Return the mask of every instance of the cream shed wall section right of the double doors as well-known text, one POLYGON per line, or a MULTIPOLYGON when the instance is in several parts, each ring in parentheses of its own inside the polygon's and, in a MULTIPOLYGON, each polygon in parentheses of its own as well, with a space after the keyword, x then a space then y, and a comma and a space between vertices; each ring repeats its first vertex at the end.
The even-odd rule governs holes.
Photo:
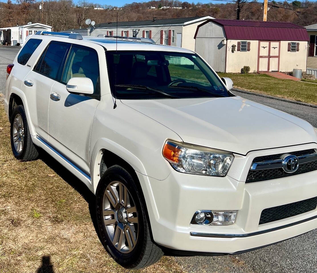
POLYGON ((306 71, 306 55, 307 41, 281 41, 280 71, 289 72, 293 71, 294 68, 306 71), (289 42, 298 42, 299 51, 287 51, 289 42))

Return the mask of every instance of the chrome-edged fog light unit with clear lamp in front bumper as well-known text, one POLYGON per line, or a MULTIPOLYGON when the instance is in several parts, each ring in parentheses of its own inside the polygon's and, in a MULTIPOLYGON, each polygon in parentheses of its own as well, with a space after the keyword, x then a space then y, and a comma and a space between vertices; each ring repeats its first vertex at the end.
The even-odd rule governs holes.
POLYGON ((197 210, 191 219, 192 225, 233 225, 237 210, 197 210))

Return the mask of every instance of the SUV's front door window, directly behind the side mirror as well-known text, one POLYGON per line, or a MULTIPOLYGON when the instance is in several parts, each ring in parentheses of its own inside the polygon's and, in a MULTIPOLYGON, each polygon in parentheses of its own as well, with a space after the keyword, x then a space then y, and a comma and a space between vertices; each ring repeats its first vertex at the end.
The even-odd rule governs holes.
POLYGON ((98 54, 94 49, 74 45, 71 47, 62 82, 66 84, 74 77, 90 78, 94 84, 94 93, 100 91, 98 54))

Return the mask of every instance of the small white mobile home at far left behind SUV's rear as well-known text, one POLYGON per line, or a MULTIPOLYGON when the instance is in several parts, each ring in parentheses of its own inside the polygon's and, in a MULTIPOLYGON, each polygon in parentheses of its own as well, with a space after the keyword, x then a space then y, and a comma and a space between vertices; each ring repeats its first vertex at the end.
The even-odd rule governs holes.
POLYGON ((0 28, 1 43, 15 46, 17 43, 23 45, 28 35, 35 34, 38 31, 52 31, 52 27, 40 23, 27 24, 23 26, 0 28))

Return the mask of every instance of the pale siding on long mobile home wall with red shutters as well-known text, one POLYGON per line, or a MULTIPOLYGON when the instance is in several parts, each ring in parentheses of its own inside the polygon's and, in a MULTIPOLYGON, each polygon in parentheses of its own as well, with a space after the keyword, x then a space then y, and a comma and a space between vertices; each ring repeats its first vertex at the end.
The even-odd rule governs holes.
MULTIPOLYGON (((98 36, 99 34, 107 34, 107 31, 113 31, 113 35, 121 35, 121 31, 129 31, 129 37, 133 35, 133 29, 140 29, 138 33, 138 37, 142 37, 143 30, 151 30, 152 31, 152 39, 155 43, 160 44, 161 39, 161 30, 175 30, 174 42, 171 39, 171 46, 176 46, 176 33, 182 33, 182 26, 153 26, 153 27, 136 27, 136 28, 118 28, 118 34, 116 28, 96 28, 94 30, 88 31, 89 36, 98 36)), ((193 36, 194 37, 194 36, 193 36)), ((194 44, 195 48, 195 44, 194 44)))

